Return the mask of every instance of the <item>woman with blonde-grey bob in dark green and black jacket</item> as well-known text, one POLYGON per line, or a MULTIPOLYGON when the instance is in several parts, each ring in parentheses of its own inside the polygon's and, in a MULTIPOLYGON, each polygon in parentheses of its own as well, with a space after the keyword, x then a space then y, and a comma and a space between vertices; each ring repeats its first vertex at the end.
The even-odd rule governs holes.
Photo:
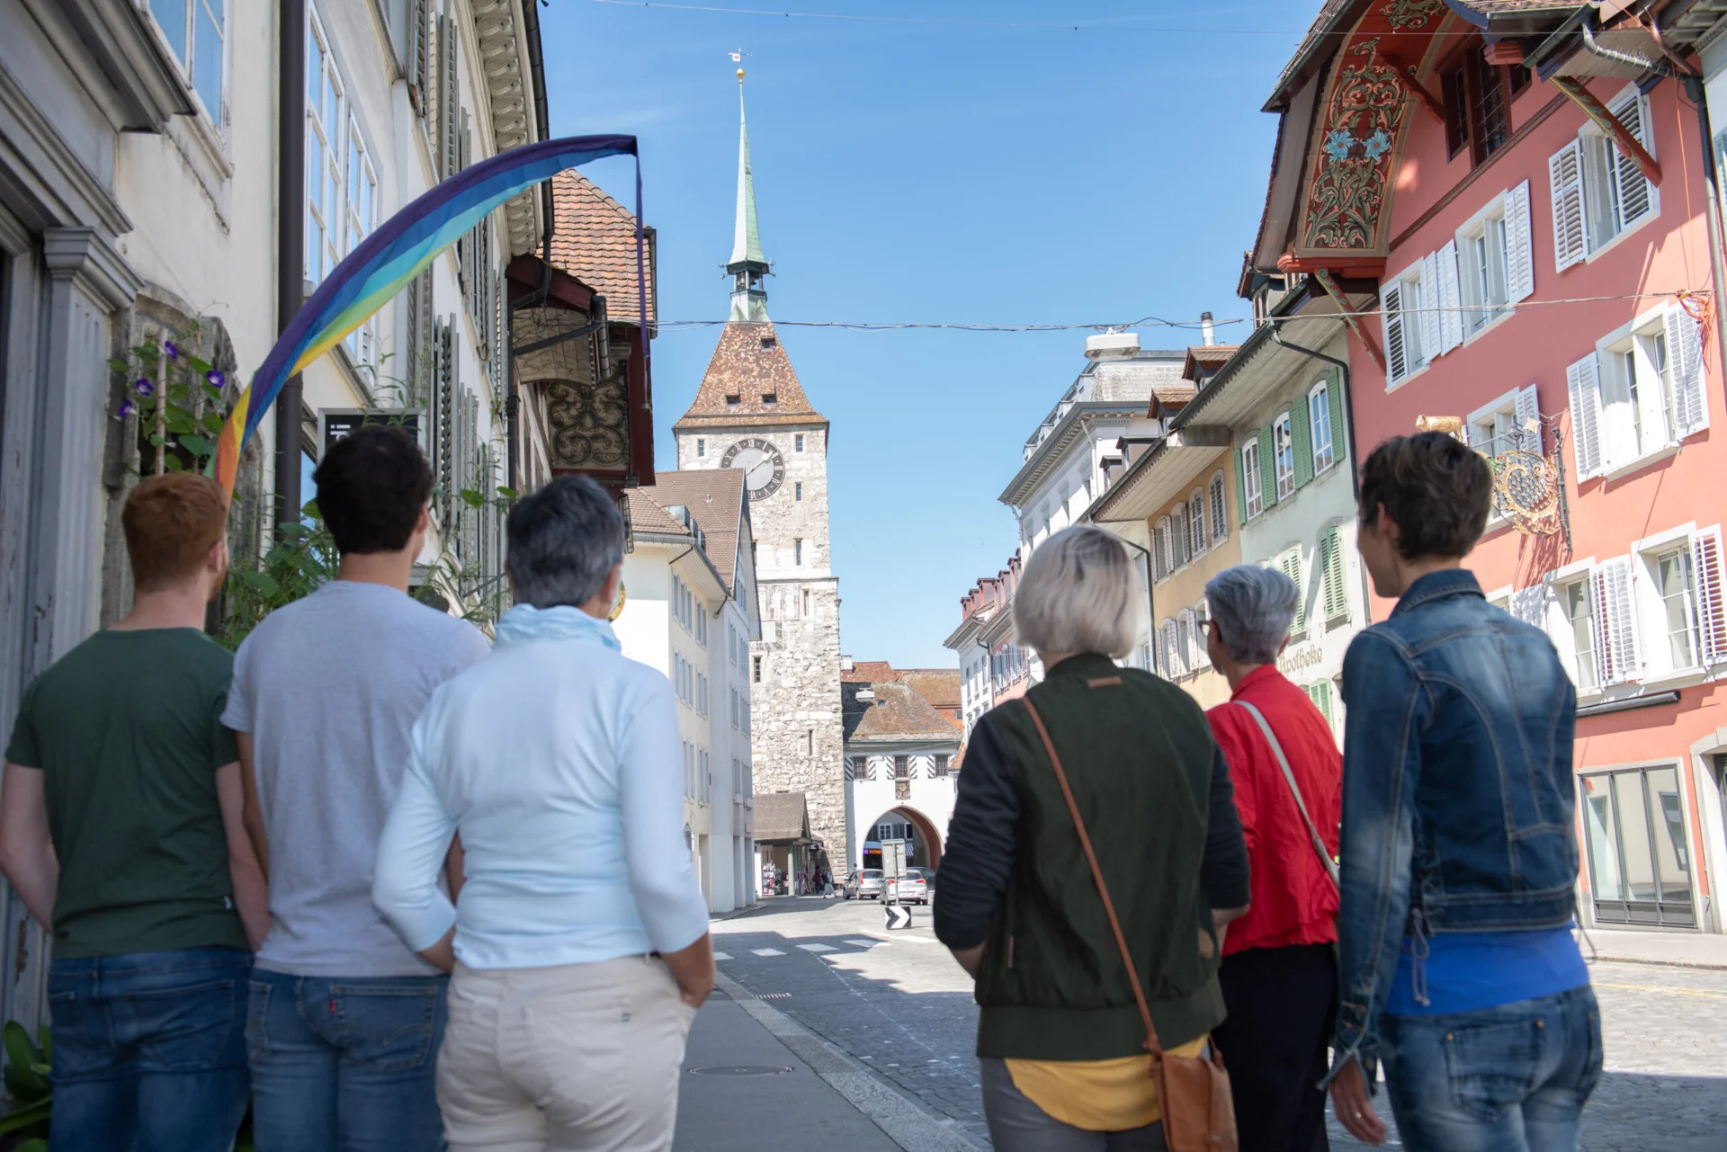
POLYGON ((1142 606, 1116 537, 1081 527, 1045 541, 1014 598, 1045 679, 984 713, 967 746, 934 924, 977 979, 996 1152, 1162 1149, 1138 991, 1169 1055, 1202 1054, 1223 1021, 1219 936, 1247 910, 1247 848, 1205 713, 1112 660, 1133 651, 1142 606))

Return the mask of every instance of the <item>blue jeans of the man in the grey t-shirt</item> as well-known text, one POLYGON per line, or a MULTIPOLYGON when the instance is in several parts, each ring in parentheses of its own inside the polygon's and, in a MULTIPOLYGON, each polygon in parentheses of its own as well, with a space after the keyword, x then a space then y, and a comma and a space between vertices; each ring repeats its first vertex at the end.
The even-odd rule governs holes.
POLYGON ((252 972, 257 1152, 442 1152, 433 1076, 447 976, 252 972))

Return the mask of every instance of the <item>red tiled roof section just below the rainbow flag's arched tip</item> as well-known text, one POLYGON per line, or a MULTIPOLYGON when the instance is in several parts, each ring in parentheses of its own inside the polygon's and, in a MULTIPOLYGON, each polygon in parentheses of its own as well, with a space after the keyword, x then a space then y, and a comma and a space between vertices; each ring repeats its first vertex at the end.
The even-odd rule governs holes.
MULTIPOLYGON (((551 178, 551 263, 606 297, 606 316, 641 323, 641 285, 636 276, 636 214, 601 192, 580 173, 551 178)), ((656 320, 653 228, 642 237, 642 275, 648 280, 648 318, 656 320)))

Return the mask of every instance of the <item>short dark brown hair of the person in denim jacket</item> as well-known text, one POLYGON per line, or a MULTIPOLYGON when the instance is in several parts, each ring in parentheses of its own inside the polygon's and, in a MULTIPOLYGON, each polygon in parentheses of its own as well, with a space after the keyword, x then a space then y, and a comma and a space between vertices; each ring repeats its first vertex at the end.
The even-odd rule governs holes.
POLYGON ((1397 523, 1397 551, 1466 556, 1487 529, 1494 473, 1480 453, 1445 432, 1394 435, 1361 465, 1361 523, 1380 504, 1397 523))

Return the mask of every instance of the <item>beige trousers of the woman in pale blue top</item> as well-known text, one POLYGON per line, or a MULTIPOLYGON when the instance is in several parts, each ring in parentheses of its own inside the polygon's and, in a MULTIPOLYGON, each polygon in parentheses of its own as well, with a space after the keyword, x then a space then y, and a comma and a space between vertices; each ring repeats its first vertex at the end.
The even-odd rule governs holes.
POLYGON ((696 1010, 665 962, 456 965, 437 1059, 451 1152, 665 1152, 696 1010))

